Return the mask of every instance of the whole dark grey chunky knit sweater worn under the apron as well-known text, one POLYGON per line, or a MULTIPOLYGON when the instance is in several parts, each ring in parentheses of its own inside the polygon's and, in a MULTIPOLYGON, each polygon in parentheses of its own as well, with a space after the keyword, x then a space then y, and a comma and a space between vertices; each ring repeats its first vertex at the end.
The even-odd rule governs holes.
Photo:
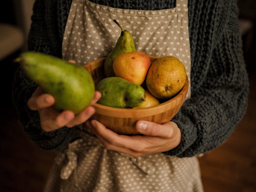
MULTIPOLYGON (((91 0, 123 9, 169 9, 175 0, 91 0)), ((72 0, 36 0, 29 49, 61 57, 61 43, 72 0)), ((233 0, 189 0, 192 97, 172 119, 182 132, 179 146, 163 152, 191 157, 210 151, 230 136, 245 113, 248 79, 233 0)), ((14 102, 26 133, 41 148, 62 150, 79 137, 76 128, 41 130, 38 113, 26 102, 36 85, 18 69, 14 102)))

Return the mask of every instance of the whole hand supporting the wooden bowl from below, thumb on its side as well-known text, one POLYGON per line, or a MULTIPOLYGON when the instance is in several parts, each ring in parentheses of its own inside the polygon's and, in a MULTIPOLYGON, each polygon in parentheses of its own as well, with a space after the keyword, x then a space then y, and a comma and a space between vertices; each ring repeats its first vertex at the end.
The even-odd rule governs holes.
POLYGON ((139 157, 146 154, 169 151, 180 144, 181 132, 175 122, 163 125, 139 120, 136 129, 143 135, 119 135, 102 123, 92 120, 86 125, 93 131, 105 148, 139 157))

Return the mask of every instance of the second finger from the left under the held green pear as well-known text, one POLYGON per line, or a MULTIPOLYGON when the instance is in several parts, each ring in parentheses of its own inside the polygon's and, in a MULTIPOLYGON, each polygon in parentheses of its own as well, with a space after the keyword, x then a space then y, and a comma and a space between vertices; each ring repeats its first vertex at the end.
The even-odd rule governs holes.
POLYGON ((55 118, 45 118, 41 121, 41 127, 44 131, 55 131, 56 129, 66 126, 74 119, 72 111, 63 111, 55 118))

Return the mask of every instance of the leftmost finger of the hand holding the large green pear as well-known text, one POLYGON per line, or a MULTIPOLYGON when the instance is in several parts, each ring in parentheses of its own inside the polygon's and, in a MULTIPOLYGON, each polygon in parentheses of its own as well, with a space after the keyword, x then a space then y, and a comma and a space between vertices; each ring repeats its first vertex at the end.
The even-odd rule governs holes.
POLYGON ((27 105, 31 110, 38 110, 41 108, 47 108, 54 104, 54 97, 48 93, 37 96, 36 94, 29 98, 27 105))

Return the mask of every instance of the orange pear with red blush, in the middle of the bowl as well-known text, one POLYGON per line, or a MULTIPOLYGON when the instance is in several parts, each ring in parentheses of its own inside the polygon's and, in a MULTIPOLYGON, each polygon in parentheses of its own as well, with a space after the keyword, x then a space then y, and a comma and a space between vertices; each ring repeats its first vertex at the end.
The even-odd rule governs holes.
POLYGON ((115 76, 141 85, 147 75, 150 64, 150 59, 144 52, 125 52, 115 58, 113 71, 115 76))

